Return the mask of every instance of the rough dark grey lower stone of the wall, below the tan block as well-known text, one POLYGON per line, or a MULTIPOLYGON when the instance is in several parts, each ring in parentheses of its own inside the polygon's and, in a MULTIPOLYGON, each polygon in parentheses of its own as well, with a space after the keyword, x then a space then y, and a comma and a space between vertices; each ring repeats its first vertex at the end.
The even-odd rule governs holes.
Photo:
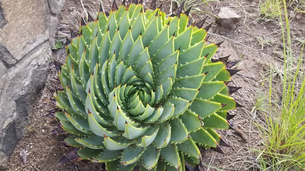
POLYGON ((0 79, 0 168, 22 137, 33 101, 45 83, 51 55, 50 45, 45 42, 0 79))

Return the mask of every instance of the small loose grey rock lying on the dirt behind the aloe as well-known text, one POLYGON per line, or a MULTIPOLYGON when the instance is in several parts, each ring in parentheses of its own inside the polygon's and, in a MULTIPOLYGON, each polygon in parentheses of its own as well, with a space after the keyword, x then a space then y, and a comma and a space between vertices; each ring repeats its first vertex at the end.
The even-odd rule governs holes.
POLYGON ((223 7, 220 9, 218 17, 217 22, 220 23, 221 26, 234 29, 241 16, 236 14, 233 9, 223 7))

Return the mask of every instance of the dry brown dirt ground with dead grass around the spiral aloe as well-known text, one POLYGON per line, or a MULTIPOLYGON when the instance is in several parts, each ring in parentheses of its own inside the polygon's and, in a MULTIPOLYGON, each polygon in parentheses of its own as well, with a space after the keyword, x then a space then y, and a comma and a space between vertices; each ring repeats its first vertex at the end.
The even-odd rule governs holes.
MULTIPOLYGON (((110 8, 110 3, 103 1, 105 9, 110 8)), ((160 5, 158 2, 157 5, 160 5)), ((278 20, 260 20, 258 11, 258 1, 248 0, 223 0, 219 2, 210 2, 206 6, 202 6, 203 11, 217 15, 222 7, 230 7, 241 16, 241 20, 236 23, 236 29, 231 30, 218 24, 213 24, 210 28, 209 43, 218 43, 225 41, 218 50, 215 57, 223 57, 231 54, 231 59, 242 59, 238 65, 241 72, 233 76, 232 86, 241 86, 233 94, 233 97, 245 108, 239 108, 232 111, 237 114, 233 119, 234 130, 221 131, 226 142, 232 147, 224 147, 226 154, 219 154, 214 151, 207 150, 203 154, 203 161, 206 168, 202 170, 259 170, 256 162, 257 154, 249 149, 260 148, 261 138, 257 131, 253 120, 256 119, 250 111, 252 110, 257 92, 263 91, 261 86, 264 77, 269 69, 269 65, 282 65, 281 51, 283 44, 281 41, 282 32, 281 25, 278 20), (260 40, 260 41, 259 41, 260 40), (220 168, 220 169, 216 169, 220 168)), ((98 11, 98 0, 84 0, 84 8, 90 11, 98 11)), ((164 2, 164 9, 169 11, 170 1, 164 2)), ((72 10, 82 11, 80 0, 67 0, 62 10, 61 19, 65 19, 72 10)), ((290 9, 292 46, 297 52, 299 51, 299 42, 295 39, 304 39, 304 15, 294 13, 290 9)), ((202 14, 205 16, 205 14, 202 14)), ((213 16, 208 16, 208 22, 214 22, 213 16)), ((205 25, 208 25, 206 23, 205 25)), ((55 55, 56 59, 64 59, 64 56, 55 55)), ((50 126, 56 122, 49 118, 40 117, 46 114, 47 110, 54 108, 50 100, 52 94, 49 89, 54 89, 60 83, 56 79, 56 71, 53 67, 50 70, 50 76, 47 80, 46 87, 43 90, 43 96, 38 97, 37 106, 31 114, 31 123, 26 126, 22 140, 16 146, 7 170, 82 170, 93 171, 101 170, 102 164, 99 163, 83 163, 77 168, 70 168, 71 164, 56 166, 68 150, 66 148, 53 148, 56 146, 60 138, 51 137, 48 133, 52 130, 50 126), (27 162, 23 163, 19 157, 21 149, 27 151, 27 162)))

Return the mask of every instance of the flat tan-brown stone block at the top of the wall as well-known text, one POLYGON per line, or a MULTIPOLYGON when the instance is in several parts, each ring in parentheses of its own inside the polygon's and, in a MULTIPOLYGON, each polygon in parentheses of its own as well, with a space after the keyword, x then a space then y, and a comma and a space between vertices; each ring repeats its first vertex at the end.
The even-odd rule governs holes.
POLYGON ((48 40, 47 0, 1 1, 1 8, 7 23, 0 28, 0 45, 7 48, 16 62, 48 40))

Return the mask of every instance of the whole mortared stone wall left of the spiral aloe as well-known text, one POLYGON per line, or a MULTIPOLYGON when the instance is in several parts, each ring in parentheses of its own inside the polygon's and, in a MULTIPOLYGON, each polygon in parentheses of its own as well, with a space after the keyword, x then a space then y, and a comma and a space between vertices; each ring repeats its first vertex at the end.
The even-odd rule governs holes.
POLYGON ((0 170, 45 84, 65 0, 0 0, 0 170))

